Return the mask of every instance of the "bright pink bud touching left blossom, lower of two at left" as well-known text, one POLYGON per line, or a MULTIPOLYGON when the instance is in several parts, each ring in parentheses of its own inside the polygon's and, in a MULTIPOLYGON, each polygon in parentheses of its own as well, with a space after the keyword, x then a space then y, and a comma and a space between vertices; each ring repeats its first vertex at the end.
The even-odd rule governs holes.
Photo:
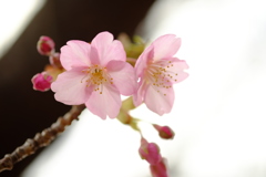
POLYGON ((45 92, 50 90, 52 83, 52 76, 47 72, 38 73, 32 79, 33 90, 45 92))

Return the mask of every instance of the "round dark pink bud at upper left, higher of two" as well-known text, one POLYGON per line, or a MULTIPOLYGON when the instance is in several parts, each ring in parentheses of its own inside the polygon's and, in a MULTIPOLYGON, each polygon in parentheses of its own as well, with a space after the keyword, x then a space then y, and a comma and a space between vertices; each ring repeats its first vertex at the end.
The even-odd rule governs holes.
POLYGON ((42 55, 51 55, 54 53, 54 42, 49 37, 40 37, 38 43, 37 43, 37 50, 42 55))

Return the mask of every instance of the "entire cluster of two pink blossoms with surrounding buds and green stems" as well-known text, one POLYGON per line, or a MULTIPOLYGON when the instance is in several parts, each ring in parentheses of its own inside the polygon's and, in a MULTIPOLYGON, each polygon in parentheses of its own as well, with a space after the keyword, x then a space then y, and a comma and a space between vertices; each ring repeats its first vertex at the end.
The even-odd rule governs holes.
MULTIPOLYGON (((175 58, 181 39, 174 34, 160 37, 150 46, 127 35, 114 40, 109 32, 99 33, 91 43, 72 40, 55 53, 54 42, 41 37, 38 51, 49 56, 44 72, 33 76, 33 88, 52 90, 57 101, 66 105, 84 104, 102 119, 117 118, 141 134, 139 153, 150 164, 153 177, 167 177, 166 159, 160 147, 149 143, 139 128, 140 119, 130 111, 145 103, 147 108, 163 115, 174 104, 173 84, 185 80, 188 69, 184 60, 175 58), (121 101, 121 95, 131 96, 121 101)), ((158 136, 172 139, 168 126, 152 124, 158 136)))

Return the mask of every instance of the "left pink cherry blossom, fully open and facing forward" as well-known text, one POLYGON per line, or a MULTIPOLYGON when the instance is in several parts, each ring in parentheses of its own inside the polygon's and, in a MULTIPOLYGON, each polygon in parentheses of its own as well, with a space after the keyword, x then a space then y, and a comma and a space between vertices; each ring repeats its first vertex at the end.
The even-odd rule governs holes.
POLYGON ((134 69, 126 63, 120 41, 109 32, 90 43, 69 41, 61 48, 61 64, 66 70, 52 83, 57 101, 68 105, 85 104, 101 118, 116 117, 121 96, 136 90, 134 69))

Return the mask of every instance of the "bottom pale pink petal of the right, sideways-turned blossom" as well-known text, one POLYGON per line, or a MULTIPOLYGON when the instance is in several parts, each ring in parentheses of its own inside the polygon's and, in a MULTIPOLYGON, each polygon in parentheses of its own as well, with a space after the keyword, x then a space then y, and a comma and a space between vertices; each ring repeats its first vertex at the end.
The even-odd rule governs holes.
POLYGON ((175 95, 173 87, 157 88, 153 85, 149 85, 144 102, 146 103, 147 108, 157 113, 158 115, 163 115, 164 113, 171 112, 174 104, 174 98, 175 95))

